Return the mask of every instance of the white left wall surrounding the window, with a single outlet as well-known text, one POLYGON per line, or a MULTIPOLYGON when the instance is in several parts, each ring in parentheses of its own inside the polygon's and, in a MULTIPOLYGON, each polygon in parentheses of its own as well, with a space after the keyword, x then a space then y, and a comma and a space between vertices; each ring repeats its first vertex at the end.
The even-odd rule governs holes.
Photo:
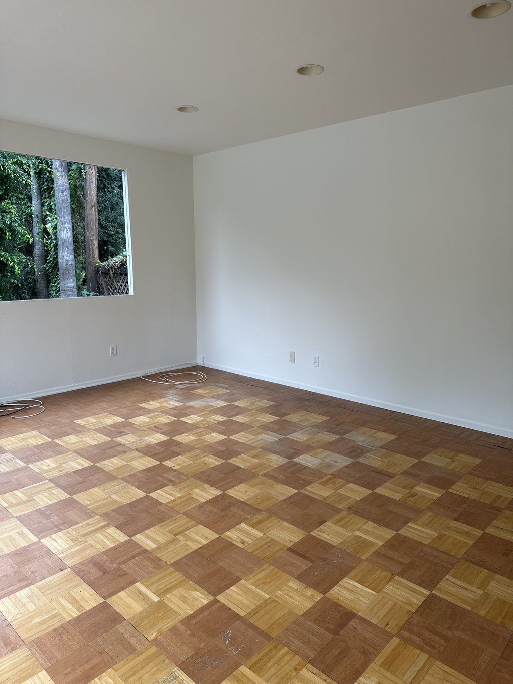
POLYGON ((127 170, 134 292, 0 302, 0 399, 196 362, 192 159, 8 121, 0 150, 127 170))

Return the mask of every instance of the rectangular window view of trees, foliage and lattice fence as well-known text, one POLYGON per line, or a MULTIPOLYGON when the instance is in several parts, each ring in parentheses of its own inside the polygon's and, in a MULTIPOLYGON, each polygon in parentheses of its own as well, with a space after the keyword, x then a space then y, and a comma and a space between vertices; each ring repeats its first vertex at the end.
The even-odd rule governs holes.
POLYGON ((0 152, 0 301, 128 294, 123 172, 0 152))

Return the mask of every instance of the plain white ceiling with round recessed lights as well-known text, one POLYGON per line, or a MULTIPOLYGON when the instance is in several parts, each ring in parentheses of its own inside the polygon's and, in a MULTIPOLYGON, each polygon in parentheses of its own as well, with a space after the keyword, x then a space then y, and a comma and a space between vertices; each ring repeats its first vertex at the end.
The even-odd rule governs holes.
POLYGON ((476 1, 2 0, 0 118, 198 154, 513 83, 476 1))

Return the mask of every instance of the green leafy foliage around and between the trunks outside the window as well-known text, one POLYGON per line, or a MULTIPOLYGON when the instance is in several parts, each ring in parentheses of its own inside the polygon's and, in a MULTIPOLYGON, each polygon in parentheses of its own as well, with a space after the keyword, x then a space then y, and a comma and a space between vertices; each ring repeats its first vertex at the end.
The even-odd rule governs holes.
MULTIPOLYGON (((0 300, 34 299, 35 267, 32 257, 30 172, 36 172, 40 190, 43 240, 49 297, 60 296, 57 254, 57 217, 51 159, 0 152, 0 300)), ((68 163, 73 248, 77 292, 86 289, 86 239, 83 189, 86 169, 68 163)), ((125 252, 122 172, 98 167, 98 252, 106 261, 125 252)))

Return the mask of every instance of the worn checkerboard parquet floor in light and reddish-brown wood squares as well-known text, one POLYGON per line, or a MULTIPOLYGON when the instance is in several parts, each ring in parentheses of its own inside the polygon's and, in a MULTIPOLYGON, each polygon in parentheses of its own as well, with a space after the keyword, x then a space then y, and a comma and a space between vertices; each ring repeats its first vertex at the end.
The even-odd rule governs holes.
POLYGON ((512 684, 512 440, 208 374, 1 422, 0 681, 512 684))

